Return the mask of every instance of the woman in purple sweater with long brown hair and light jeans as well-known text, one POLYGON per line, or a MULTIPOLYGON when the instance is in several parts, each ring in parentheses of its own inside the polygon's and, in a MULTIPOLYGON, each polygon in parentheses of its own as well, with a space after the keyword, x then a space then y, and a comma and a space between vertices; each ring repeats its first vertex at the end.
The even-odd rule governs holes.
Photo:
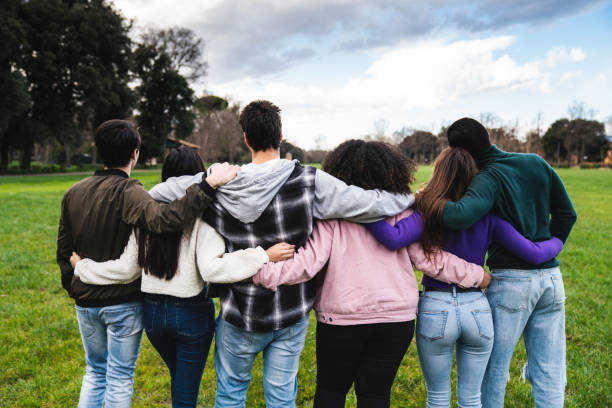
MULTIPOLYGON (((459 201, 478 172, 464 149, 447 148, 434 163, 427 186, 416 195, 411 217, 395 226, 379 221, 368 230, 389 249, 399 249, 420 240, 428 257, 440 248, 466 261, 484 264, 491 241, 532 264, 554 258, 563 243, 558 238, 532 242, 514 227, 490 213, 471 228, 455 232, 442 226, 442 208, 447 200, 459 201)), ((477 288, 463 289, 424 275, 419 300, 416 343, 427 383, 427 407, 449 407, 453 349, 457 348, 457 400, 459 407, 481 407, 480 386, 493 346, 493 321, 487 298, 477 288)))

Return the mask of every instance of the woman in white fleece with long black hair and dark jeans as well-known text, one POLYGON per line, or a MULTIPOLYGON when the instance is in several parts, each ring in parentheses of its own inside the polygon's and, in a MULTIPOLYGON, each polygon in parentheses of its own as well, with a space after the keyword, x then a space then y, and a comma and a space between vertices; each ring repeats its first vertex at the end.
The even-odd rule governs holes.
MULTIPOLYGON (((171 151, 164 160, 162 181, 205 171, 198 153, 171 151)), ((188 230, 155 234, 135 230, 117 260, 71 261, 82 281, 109 285, 142 277, 144 328, 171 377, 173 407, 195 407, 215 328, 215 308, 206 283, 232 283, 251 277, 267 261, 293 255, 293 246, 277 244, 225 254, 223 238, 197 219, 188 230)))

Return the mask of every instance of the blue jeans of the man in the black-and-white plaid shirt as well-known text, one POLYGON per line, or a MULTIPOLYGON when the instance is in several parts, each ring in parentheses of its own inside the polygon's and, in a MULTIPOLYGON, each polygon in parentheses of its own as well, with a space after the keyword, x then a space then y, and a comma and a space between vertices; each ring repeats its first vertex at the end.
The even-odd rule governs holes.
POLYGON ((215 407, 245 406, 253 362, 262 351, 266 407, 295 407, 297 372, 307 332, 308 316, 293 326, 265 333, 248 332, 217 318, 215 407))

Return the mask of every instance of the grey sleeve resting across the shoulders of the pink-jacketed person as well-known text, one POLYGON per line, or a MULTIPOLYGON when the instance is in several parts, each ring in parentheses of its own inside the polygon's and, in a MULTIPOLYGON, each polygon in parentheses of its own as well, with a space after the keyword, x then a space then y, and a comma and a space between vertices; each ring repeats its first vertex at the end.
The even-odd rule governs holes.
POLYGON ((399 214, 413 203, 411 194, 364 190, 349 186, 321 170, 315 175, 313 216, 318 219, 342 218, 369 223, 399 214))

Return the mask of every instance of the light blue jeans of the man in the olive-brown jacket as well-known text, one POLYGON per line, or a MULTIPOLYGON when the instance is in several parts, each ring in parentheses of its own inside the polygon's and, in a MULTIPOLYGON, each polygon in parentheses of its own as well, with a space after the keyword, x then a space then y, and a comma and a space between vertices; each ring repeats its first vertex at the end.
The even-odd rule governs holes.
POLYGON ((79 408, 129 407, 142 338, 142 303, 76 306, 85 349, 79 408))

